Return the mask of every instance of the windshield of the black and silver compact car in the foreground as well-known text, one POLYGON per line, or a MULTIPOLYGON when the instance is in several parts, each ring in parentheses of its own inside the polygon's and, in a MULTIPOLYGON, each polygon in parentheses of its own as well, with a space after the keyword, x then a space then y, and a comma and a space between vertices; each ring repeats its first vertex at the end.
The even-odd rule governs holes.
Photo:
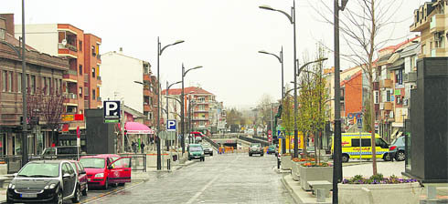
POLYGON ((28 163, 18 177, 59 177, 59 163, 28 163))

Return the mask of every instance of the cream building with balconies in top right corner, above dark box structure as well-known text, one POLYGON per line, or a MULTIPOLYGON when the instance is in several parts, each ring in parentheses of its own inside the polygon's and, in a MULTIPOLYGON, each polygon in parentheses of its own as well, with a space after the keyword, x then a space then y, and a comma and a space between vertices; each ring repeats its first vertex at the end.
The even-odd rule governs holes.
POLYGON ((411 32, 421 36, 422 57, 448 56, 448 1, 432 0, 414 11, 411 32))

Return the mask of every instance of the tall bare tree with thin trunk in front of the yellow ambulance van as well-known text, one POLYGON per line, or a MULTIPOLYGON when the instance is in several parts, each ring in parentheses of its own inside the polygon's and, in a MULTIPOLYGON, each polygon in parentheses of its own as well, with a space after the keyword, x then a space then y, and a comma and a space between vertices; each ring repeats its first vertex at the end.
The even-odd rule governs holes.
MULTIPOLYGON (((325 22, 333 25, 333 15, 325 16, 326 12, 333 13, 332 9, 321 0, 325 8, 316 8, 315 11, 321 15, 325 22), (330 19, 330 18, 331 19, 330 19)), ((393 25, 400 21, 393 21, 394 15, 400 9, 403 1, 385 0, 350 0, 347 8, 340 16, 340 31, 348 48, 347 53, 341 53, 347 61, 360 66, 364 75, 368 78, 368 106, 370 110, 369 122, 372 144, 372 168, 376 175, 376 144, 375 144, 375 105, 374 105, 374 82, 378 80, 380 70, 374 65, 374 59, 378 57, 379 49, 392 39, 393 25), (388 30, 388 28, 390 29, 388 30), (389 35, 384 32, 389 31, 389 35)))

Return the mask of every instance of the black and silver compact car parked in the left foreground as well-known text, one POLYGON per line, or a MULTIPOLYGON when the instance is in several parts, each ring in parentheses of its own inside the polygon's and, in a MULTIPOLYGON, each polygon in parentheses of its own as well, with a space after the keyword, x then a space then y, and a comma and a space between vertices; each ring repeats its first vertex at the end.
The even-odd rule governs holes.
POLYGON ((30 161, 6 190, 6 202, 80 202, 80 181, 69 160, 30 161))

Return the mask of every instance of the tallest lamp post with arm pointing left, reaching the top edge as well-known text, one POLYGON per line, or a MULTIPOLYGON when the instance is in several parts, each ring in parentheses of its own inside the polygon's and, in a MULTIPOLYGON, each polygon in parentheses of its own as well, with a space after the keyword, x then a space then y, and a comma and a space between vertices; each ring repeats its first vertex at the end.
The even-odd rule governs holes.
POLYGON ((295 40, 295 0, 293 0, 293 7, 291 7, 291 15, 288 15, 286 12, 282 11, 282 10, 278 10, 278 9, 273 9, 271 6, 268 5, 261 5, 259 6, 261 9, 266 9, 266 10, 270 10, 270 11, 276 11, 276 12, 280 12, 283 15, 285 15, 290 23, 293 25, 293 65, 294 65, 294 155, 293 158, 297 158, 298 154, 299 154, 299 149, 298 149, 298 130, 297 130, 297 70, 296 70, 296 63, 295 60, 297 58, 296 56, 296 40, 295 40))

